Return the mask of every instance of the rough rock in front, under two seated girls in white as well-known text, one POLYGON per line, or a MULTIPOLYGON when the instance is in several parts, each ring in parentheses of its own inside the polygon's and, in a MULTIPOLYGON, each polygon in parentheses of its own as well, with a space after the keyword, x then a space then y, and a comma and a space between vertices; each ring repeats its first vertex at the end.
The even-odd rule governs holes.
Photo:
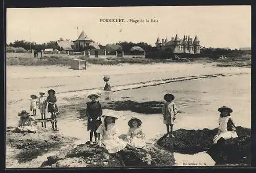
POLYGON ((173 166, 174 163, 172 154, 154 144, 147 144, 143 149, 126 147, 116 154, 109 154, 105 148, 80 144, 65 158, 49 157, 42 167, 173 166))

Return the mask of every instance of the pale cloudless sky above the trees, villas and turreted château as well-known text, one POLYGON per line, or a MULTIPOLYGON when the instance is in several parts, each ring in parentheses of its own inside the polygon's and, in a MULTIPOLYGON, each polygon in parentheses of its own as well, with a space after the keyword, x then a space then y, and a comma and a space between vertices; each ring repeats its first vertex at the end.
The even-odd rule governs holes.
POLYGON ((101 45, 132 41, 155 46, 158 36, 170 40, 189 34, 193 40, 197 35, 205 47, 251 47, 251 6, 9 8, 6 18, 7 44, 22 39, 37 44, 76 40, 83 30, 101 45), (100 22, 104 18, 126 22, 100 22), (130 19, 158 23, 130 23, 130 19))

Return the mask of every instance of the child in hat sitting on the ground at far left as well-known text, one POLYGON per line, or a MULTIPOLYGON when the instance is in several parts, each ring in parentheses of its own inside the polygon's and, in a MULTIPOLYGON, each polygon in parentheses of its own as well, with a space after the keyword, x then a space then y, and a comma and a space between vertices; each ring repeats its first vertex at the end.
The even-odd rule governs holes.
POLYGON ((22 111, 18 114, 20 117, 18 121, 18 126, 14 129, 14 132, 24 133, 26 135, 29 133, 36 133, 36 128, 32 125, 32 117, 27 111, 22 111))

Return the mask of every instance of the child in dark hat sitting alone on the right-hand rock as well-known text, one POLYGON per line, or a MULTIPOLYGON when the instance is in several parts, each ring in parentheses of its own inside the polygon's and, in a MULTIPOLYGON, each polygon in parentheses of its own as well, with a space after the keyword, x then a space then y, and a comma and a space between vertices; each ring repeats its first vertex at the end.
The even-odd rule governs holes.
POLYGON ((233 110, 230 107, 222 106, 218 111, 221 113, 219 118, 219 130, 214 137, 214 143, 218 143, 221 138, 224 140, 237 138, 236 126, 234 126, 234 122, 230 116, 233 110))

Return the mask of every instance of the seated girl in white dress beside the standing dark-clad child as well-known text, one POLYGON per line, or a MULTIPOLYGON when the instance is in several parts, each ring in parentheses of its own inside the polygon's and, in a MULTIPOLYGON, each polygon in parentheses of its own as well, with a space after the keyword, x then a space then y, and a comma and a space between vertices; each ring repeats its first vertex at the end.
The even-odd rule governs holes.
POLYGON ((104 123, 97 129, 99 142, 96 146, 105 147, 110 154, 114 154, 126 147, 127 143, 119 139, 118 129, 115 125, 115 120, 118 118, 108 115, 104 117, 104 123), (100 134, 102 135, 102 140, 100 140, 100 134))

